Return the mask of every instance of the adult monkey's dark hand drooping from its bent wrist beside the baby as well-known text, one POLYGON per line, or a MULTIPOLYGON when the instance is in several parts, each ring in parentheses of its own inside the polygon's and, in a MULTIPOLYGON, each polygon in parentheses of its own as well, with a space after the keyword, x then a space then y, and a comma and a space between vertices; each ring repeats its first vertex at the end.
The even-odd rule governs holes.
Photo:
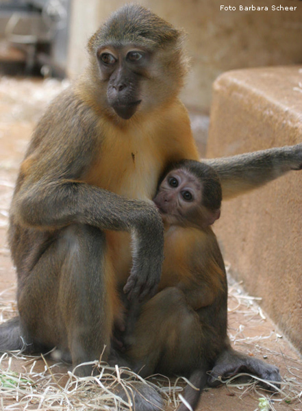
POLYGON ((124 287, 129 300, 142 301, 158 290, 164 260, 164 227, 155 206, 148 206, 136 229, 133 265, 124 287))

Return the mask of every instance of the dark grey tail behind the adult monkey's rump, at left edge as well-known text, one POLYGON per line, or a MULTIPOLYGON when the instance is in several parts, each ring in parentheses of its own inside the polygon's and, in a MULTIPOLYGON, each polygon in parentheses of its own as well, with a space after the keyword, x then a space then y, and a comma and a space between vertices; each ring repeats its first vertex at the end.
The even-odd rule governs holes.
POLYGON ((23 348, 20 318, 18 316, 0 324, 0 352, 23 348))

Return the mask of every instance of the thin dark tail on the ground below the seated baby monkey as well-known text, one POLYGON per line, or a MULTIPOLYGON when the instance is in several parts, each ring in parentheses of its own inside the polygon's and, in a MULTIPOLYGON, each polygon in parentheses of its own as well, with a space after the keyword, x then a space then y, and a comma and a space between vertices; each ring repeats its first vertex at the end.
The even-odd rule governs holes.
MULTIPOLYGON (((203 369, 199 369, 197 371, 194 371, 194 373, 191 374, 190 383, 198 388, 192 388, 191 385, 187 385, 184 391, 184 399, 186 403, 192 408, 192 410, 195 410, 197 407, 199 397, 201 396, 201 391, 205 387, 205 384, 207 384, 207 373, 203 369)), ((177 411, 188 411, 189 408, 186 406, 185 403, 181 403, 180 406, 177 407, 177 411)))

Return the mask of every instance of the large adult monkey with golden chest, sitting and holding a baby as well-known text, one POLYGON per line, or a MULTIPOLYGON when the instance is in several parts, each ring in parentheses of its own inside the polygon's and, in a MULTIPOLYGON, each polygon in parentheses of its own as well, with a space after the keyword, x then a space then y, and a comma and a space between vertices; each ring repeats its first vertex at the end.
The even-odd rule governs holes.
MULTIPOLYGON (((121 319, 116 287, 130 299, 156 292, 163 229, 149 200, 168 163, 199 158, 177 98, 187 66, 181 41, 140 5, 121 8, 90 39, 88 70, 42 117, 12 200, 19 316, 1 326, 1 351, 21 348, 23 336, 29 348, 71 353, 75 366, 95 360, 121 319)), ((302 145, 210 164, 227 198, 301 169, 302 145)), ((275 379, 261 364, 226 340, 213 373, 249 365, 275 379)))

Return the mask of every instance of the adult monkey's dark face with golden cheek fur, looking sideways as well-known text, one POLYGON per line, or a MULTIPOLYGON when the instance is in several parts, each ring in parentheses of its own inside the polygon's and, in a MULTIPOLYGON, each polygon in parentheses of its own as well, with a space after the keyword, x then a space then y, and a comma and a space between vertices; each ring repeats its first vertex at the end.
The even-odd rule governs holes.
MULTIPOLYGON (((97 51, 107 105, 124 120, 138 112, 149 115, 177 95, 180 79, 171 69, 171 51, 133 45, 102 46, 97 51)), ((176 71, 176 73, 178 73, 176 71)))

